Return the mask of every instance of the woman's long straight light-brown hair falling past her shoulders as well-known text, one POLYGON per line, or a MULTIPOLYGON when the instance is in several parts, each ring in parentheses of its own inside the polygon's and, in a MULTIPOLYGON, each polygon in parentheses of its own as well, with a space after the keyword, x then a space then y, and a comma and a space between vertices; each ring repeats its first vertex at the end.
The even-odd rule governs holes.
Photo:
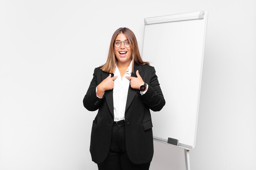
POLYGON ((130 43, 130 48, 131 48, 131 52, 132 52, 132 73, 134 73, 134 70, 133 70, 134 63, 139 64, 139 65, 144 65, 144 64, 149 65, 149 62, 144 62, 141 59, 141 56, 139 54, 138 43, 137 43, 134 33, 130 29, 124 27, 124 28, 117 29, 117 31, 115 31, 115 33, 112 35, 110 47, 109 47, 109 51, 108 51, 108 59, 107 59, 107 62, 101 66, 101 70, 105 71, 107 73, 115 72, 117 60, 115 57, 114 42, 115 42, 117 35, 119 35, 121 33, 126 35, 126 37, 128 38, 128 41, 130 43))

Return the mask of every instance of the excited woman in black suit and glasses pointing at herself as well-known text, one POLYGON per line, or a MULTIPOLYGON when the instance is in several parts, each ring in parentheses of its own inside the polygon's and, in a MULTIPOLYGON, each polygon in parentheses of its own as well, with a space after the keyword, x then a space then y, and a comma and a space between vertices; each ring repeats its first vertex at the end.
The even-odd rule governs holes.
POLYGON ((143 62, 128 28, 112 35, 108 59, 94 69, 83 99, 86 109, 99 109, 93 123, 90 152, 99 170, 148 170, 153 157, 149 109, 165 104, 155 69, 143 62))

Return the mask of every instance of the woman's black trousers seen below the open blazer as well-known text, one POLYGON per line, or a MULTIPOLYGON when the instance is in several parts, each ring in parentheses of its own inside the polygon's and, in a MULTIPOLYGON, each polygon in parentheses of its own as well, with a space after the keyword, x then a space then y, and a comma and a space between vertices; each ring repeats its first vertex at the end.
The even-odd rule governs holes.
POLYGON ((108 157, 98 163, 99 170, 149 170, 150 162, 135 164, 126 153, 125 121, 114 122, 108 157))

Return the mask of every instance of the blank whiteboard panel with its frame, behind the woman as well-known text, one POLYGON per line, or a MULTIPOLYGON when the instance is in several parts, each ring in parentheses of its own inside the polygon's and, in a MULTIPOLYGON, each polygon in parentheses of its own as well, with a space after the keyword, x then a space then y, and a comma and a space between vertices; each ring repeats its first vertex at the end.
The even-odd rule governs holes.
POLYGON ((145 18, 142 56, 155 67, 166 100, 152 113, 154 139, 195 148, 207 11, 145 18))

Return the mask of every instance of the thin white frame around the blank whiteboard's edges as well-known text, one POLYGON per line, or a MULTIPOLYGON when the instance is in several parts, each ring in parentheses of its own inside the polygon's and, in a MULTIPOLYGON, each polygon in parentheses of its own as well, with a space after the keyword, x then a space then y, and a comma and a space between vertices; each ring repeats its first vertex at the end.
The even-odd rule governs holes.
MULTIPOLYGON (((196 144, 197 129, 198 129, 198 113, 199 113, 199 104, 200 104, 200 92, 201 92, 201 82, 202 82, 202 68, 203 68, 204 48, 205 48, 205 40, 206 40, 206 33, 207 33, 208 11, 197 11, 197 12, 191 12, 191 13, 164 15, 164 16, 150 17, 150 18, 144 19, 144 36, 143 36, 143 45, 142 45, 141 56, 143 56, 143 51, 144 51, 144 38, 145 38, 146 25, 158 24, 158 23, 164 23, 164 22, 178 22, 178 21, 184 21, 184 20, 198 20, 198 19, 205 20, 205 25, 204 25, 205 29, 204 29, 204 39, 203 39, 202 56, 201 56, 202 62, 201 62, 201 68, 200 68, 200 79, 199 79, 200 82, 199 82, 199 89, 198 89, 198 105, 197 105, 197 112, 196 112, 194 145, 189 146, 189 145, 182 144, 182 143, 178 144, 179 147, 186 148, 186 149, 195 148, 195 144, 196 144)), ((155 137, 155 136, 153 136, 153 139, 155 141, 168 144, 167 139, 162 139, 162 138, 155 137)))

